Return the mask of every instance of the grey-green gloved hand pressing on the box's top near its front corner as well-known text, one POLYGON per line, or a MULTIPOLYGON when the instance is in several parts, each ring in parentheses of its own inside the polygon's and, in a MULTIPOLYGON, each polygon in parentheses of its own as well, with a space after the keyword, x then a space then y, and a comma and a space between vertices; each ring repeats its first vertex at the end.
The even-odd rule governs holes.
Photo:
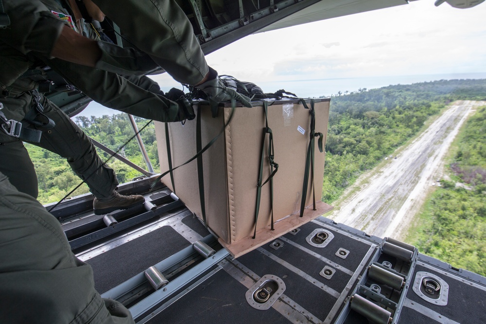
POLYGON ((226 87, 218 76, 218 72, 209 67, 208 81, 200 85, 195 85, 199 90, 204 91, 208 96, 211 105, 218 104, 226 100, 236 100, 243 106, 251 108, 250 98, 239 94, 234 89, 226 87))

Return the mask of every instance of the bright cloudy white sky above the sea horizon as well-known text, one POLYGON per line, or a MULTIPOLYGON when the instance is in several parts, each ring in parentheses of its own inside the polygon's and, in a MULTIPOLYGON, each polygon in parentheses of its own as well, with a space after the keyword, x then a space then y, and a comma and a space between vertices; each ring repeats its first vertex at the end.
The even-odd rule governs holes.
POLYGON ((486 72, 485 44, 486 2, 456 9, 419 0, 250 35, 207 60, 220 74, 255 83, 486 72))

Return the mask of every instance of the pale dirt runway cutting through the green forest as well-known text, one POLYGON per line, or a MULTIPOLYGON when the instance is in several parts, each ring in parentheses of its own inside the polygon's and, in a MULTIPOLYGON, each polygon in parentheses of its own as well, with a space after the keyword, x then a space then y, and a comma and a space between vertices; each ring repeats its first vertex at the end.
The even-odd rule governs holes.
POLYGON ((471 110, 482 105, 486 102, 453 102, 392 158, 364 173, 324 216, 369 235, 403 239, 427 192, 438 185, 444 156, 461 125, 471 110))

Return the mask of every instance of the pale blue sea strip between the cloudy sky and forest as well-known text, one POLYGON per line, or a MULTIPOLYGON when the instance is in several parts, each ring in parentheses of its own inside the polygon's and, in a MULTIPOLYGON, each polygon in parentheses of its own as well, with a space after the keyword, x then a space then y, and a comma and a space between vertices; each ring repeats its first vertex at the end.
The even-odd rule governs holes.
MULTIPOLYGON (((331 96, 337 94, 339 91, 342 93, 345 93, 346 91, 353 92, 360 88, 375 89, 388 85, 409 85, 420 82, 454 79, 486 79, 486 72, 276 81, 261 82, 258 83, 258 85, 264 92, 275 92, 280 89, 285 89, 288 92, 295 93, 301 98, 318 98, 321 96, 331 96)), ((162 90, 168 91, 172 85, 169 87, 160 85, 160 87, 162 90)), ((113 115, 116 113, 119 112, 117 110, 106 108, 99 103, 91 102, 78 116, 101 117, 103 115, 113 115)))

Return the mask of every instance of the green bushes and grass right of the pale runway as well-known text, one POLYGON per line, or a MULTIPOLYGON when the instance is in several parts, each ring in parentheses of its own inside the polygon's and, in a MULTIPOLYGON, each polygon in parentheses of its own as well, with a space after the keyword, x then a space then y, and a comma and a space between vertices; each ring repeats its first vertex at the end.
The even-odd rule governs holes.
POLYGON ((485 134, 483 107, 453 145, 448 168, 453 181, 441 181, 406 238, 421 253, 481 275, 486 275, 485 134))

